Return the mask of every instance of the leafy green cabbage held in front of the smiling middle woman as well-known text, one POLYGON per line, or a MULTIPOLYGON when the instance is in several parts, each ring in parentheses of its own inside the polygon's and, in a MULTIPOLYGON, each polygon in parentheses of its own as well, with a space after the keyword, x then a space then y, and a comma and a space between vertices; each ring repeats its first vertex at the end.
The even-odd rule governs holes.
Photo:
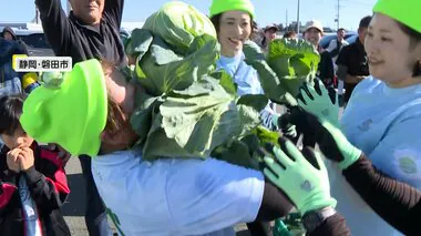
POLYGON ((267 57, 253 43, 245 45, 244 53, 246 63, 257 70, 265 94, 276 103, 289 105, 297 104, 294 98, 299 86, 316 78, 320 61, 316 49, 301 39, 271 41, 267 57))

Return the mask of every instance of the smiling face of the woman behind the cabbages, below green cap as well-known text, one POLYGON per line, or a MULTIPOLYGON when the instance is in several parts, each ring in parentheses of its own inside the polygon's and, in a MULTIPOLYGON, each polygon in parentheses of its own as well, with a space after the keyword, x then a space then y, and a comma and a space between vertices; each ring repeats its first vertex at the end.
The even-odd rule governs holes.
POLYGON ((218 41, 225 57, 235 57, 251 34, 251 19, 244 11, 227 11, 220 16, 218 41))

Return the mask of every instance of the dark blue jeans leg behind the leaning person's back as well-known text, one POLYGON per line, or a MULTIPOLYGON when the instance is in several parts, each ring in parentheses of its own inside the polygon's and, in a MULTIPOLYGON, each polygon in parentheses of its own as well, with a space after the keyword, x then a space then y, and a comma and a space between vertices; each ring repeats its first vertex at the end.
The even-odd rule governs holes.
POLYGON ((106 219, 105 205, 97 193, 95 182, 91 171, 91 157, 79 156, 81 162, 83 178, 85 179, 86 205, 85 223, 90 236, 111 236, 113 232, 106 219))

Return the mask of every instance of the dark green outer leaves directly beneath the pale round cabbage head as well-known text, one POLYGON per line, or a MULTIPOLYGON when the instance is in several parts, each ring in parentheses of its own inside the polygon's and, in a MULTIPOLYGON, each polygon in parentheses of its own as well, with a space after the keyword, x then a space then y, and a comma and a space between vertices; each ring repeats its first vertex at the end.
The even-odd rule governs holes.
POLYGON ((218 59, 218 43, 207 34, 195 38, 192 52, 176 54, 160 37, 154 37, 148 51, 138 57, 136 74, 151 95, 162 95, 173 90, 184 90, 209 73, 218 59))

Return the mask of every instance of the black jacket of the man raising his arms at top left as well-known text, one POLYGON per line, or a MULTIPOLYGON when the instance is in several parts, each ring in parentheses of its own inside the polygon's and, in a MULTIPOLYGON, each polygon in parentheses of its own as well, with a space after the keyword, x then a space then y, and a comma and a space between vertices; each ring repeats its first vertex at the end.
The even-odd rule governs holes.
POLYGON ((71 57, 73 64, 93 58, 115 65, 125 62, 120 39, 123 3, 123 0, 106 0, 100 24, 89 25, 73 12, 68 17, 60 0, 35 0, 42 28, 55 55, 71 57))

